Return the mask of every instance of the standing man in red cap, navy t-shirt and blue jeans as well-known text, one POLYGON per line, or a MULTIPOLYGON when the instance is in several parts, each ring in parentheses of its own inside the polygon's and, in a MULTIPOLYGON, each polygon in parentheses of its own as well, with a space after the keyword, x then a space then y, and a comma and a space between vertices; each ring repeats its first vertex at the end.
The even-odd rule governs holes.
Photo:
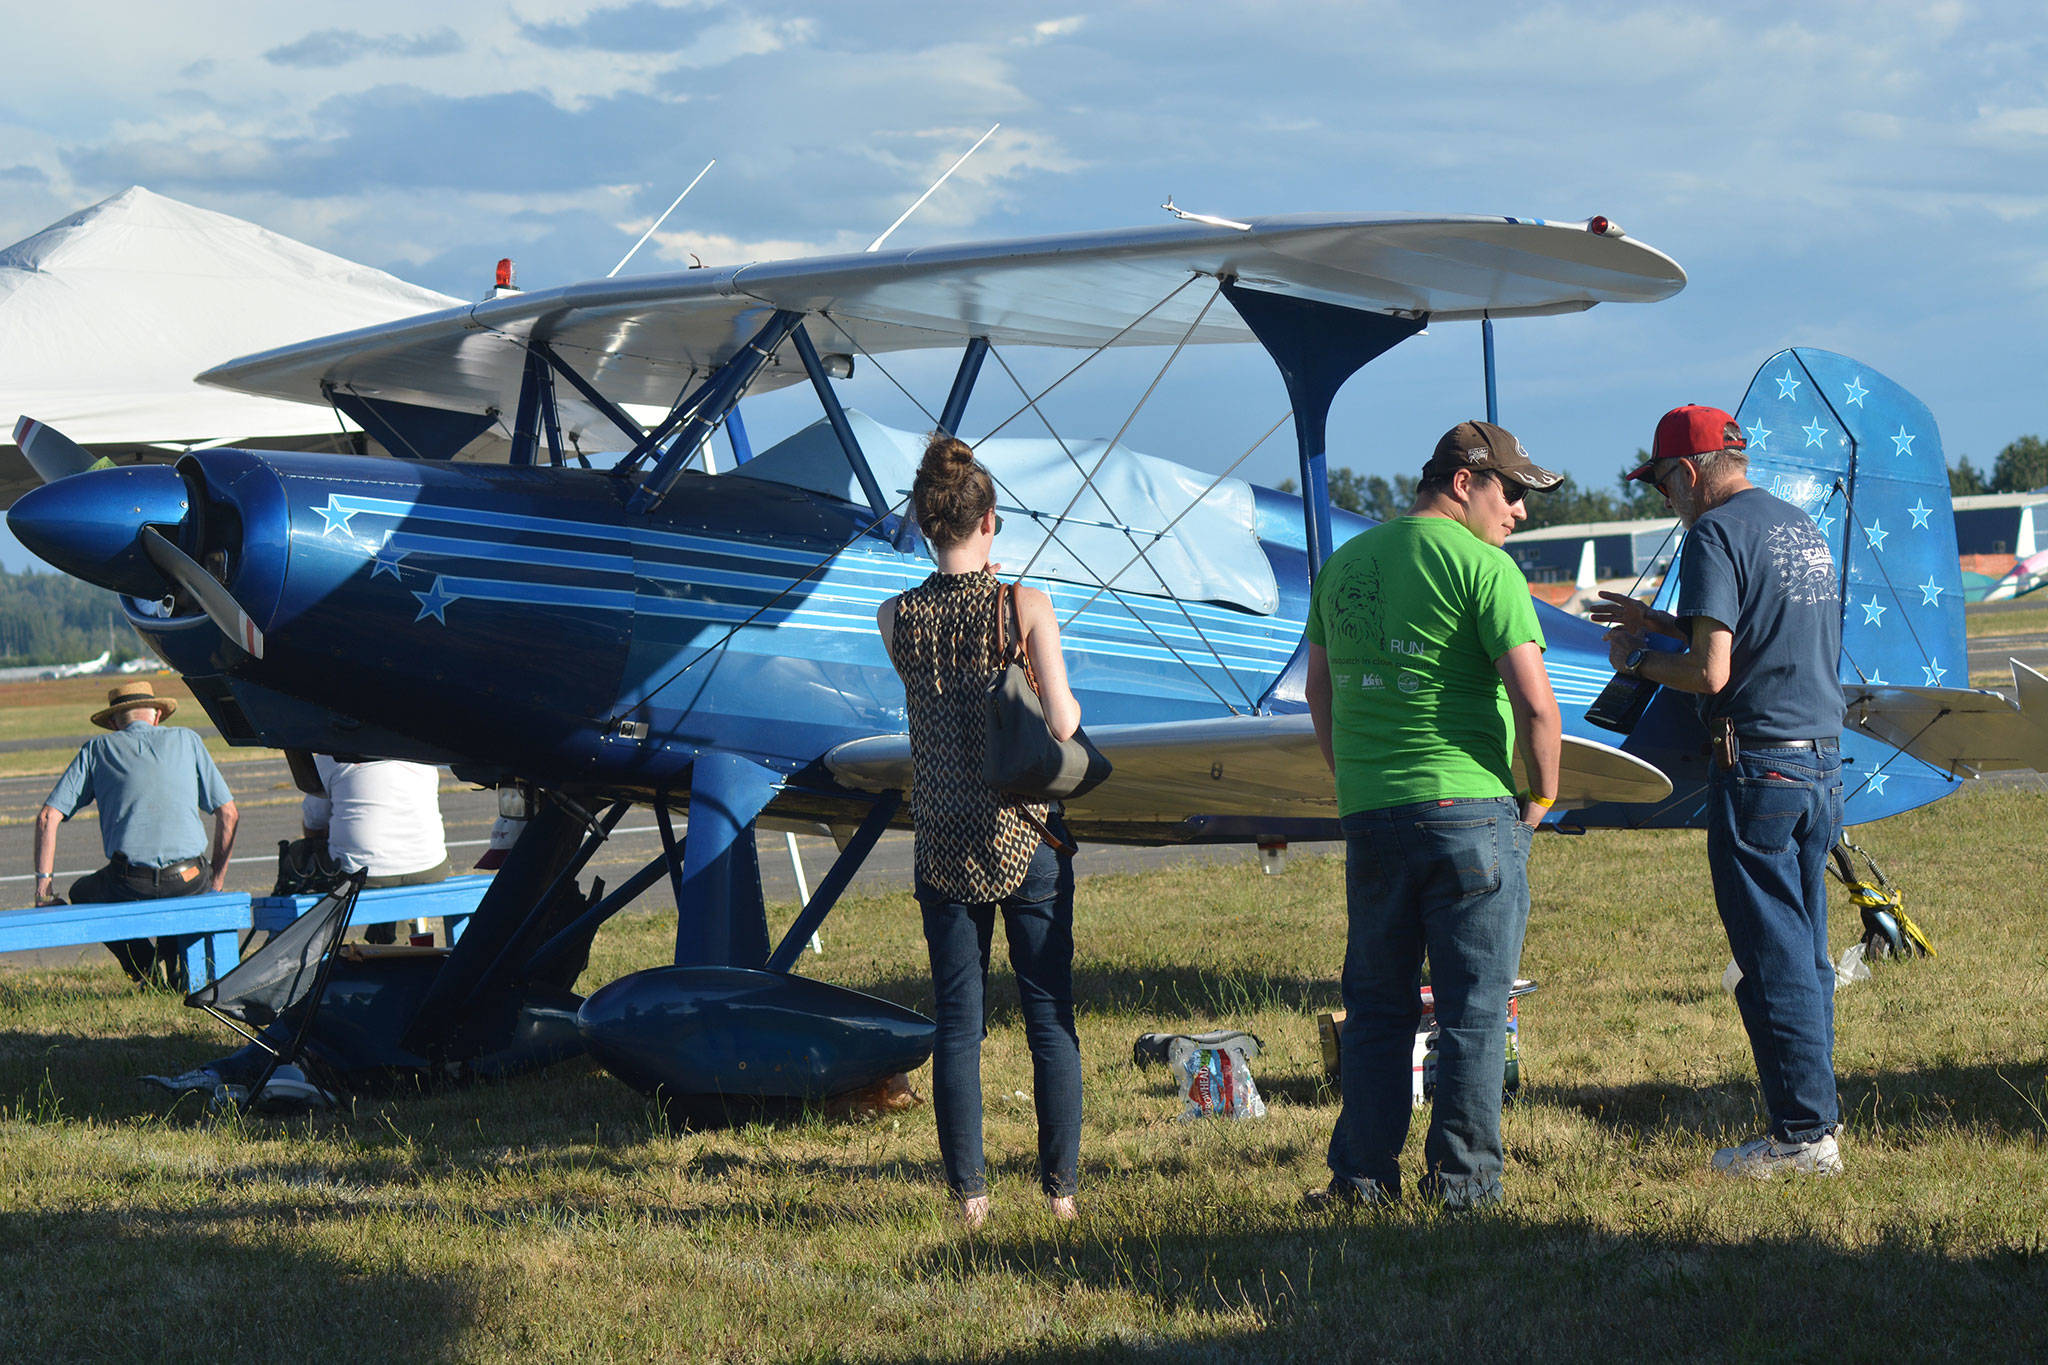
POLYGON ((1663 415, 1628 477, 1688 528, 1677 612, 1599 593, 1591 616, 1612 626, 1616 671, 1692 692, 1714 741, 1706 862, 1769 1115, 1763 1136, 1714 1152, 1714 1171, 1839 1175, 1827 855, 1841 833, 1841 596, 1827 538, 1749 481, 1747 446, 1718 407, 1663 415))

